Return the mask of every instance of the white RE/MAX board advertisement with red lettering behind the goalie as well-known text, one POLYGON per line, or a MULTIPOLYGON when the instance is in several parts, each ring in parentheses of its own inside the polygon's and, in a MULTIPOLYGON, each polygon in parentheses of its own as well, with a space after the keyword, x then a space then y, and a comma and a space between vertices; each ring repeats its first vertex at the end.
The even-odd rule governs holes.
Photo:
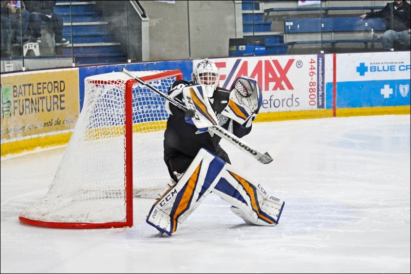
MULTIPOLYGON (((193 67, 202 60, 194 60, 193 67)), ((260 112, 325 108, 324 54, 213 59, 219 86, 230 89, 236 78, 257 80, 263 93, 260 112)))

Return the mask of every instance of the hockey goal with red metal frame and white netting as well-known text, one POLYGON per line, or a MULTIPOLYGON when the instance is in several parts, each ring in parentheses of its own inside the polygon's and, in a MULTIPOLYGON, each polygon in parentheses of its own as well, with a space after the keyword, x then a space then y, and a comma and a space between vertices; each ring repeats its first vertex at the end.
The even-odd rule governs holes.
MULTIPOLYGON (((182 80, 180 70, 133 73, 163 93, 182 80)), ((49 190, 22 211, 22 223, 133 226, 133 196, 156 197, 169 187, 165 99, 123 72, 87 77, 84 90, 83 109, 49 190)))

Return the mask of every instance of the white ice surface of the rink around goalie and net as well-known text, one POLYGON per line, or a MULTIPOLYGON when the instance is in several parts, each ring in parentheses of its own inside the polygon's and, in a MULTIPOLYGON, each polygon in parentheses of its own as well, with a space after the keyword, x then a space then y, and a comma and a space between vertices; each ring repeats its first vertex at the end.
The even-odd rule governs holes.
POLYGON ((2 158, 1 272, 410 273, 410 116, 255 123, 245 140, 266 151, 284 136, 294 143, 268 165, 222 142, 284 198, 277 226, 246 225, 211 194, 171 237, 145 222, 147 198, 134 199, 131 228, 24 225, 65 147, 2 158))

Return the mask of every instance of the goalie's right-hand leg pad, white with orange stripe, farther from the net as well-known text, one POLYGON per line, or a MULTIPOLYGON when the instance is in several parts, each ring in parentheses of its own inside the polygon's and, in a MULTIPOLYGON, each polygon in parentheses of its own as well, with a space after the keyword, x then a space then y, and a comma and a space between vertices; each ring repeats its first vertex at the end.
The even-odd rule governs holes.
POLYGON ((230 203, 231 211, 249 224, 274 226, 283 212, 284 200, 268 195, 260 184, 253 185, 228 163, 213 193, 230 203))

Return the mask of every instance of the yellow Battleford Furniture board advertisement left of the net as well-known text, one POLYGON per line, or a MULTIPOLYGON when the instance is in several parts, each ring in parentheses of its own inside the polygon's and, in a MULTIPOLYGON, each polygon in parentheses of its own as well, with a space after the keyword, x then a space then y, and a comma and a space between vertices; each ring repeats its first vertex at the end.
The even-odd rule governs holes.
POLYGON ((1 142, 72 130, 79 115, 77 69, 2 75, 1 142))

